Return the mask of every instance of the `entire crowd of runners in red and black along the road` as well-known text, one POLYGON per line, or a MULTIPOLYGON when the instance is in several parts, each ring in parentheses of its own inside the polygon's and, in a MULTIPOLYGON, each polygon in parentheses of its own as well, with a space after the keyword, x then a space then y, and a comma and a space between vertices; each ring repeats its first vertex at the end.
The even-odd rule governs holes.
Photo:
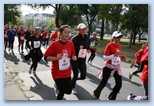
MULTIPOLYGON (((14 52, 14 40, 18 37, 18 52, 24 53, 24 49, 29 53, 24 56, 25 60, 32 60, 29 68, 29 74, 37 75, 37 67, 39 61, 43 58, 47 62, 51 62, 52 78, 55 81, 57 100, 62 100, 64 94, 77 94, 76 81, 84 80, 87 75, 86 63, 92 64, 95 58, 96 46, 99 45, 97 33, 93 32, 92 37, 86 35, 87 26, 84 23, 77 25, 77 31, 73 36, 70 35, 70 26, 62 25, 55 28, 53 32, 48 29, 42 30, 40 27, 33 29, 14 28, 14 26, 4 26, 4 52, 14 52), (41 47, 46 49, 42 53, 41 47), (86 61, 86 54, 90 57, 86 61), (80 76, 78 73, 80 72, 80 76), (73 74, 73 76, 71 76, 73 74)), ((122 70, 120 63, 127 57, 122 54, 120 40, 122 33, 114 31, 112 40, 104 50, 103 60, 105 66, 102 69, 102 79, 93 96, 99 99, 103 88, 106 86, 108 79, 112 75, 115 79, 115 85, 108 96, 109 100, 116 100, 117 94, 122 87, 122 70)), ((145 95, 148 97, 148 42, 136 53, 135 62, 132 66, 137 66, 138 70, 129 74, 130 80, 133 76, 140 77, 143 82, 145 95), (142 73, 139 76, 137 73, 142 73)), ((131 66, 131 67, 132 67, 131 66)), ((146 98, 147 99, 147 98, 146 98)))

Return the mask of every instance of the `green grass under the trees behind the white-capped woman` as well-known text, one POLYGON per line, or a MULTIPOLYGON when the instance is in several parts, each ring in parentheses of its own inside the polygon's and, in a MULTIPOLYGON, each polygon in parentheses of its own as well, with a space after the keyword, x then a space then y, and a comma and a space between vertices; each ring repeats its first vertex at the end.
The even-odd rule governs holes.
MULTIPOLYGON (((103 40, 100 40, 98 37, 99 45, 97 45, 96 52, 99 54, 104 53, 105 46, 110 42, 111 37, 104 37, 103 40)), ((121 38, 121 46, 122 46, 122 54, 127 57, 126 62, 132 63, 135 60, 135 53, 141 48, 142 44, 145 44, 146 41, 140 41, 138 40, 135 41, 135 45, 132 45, 131 48, 128 47, 129 44, 129 39, 121 38)))

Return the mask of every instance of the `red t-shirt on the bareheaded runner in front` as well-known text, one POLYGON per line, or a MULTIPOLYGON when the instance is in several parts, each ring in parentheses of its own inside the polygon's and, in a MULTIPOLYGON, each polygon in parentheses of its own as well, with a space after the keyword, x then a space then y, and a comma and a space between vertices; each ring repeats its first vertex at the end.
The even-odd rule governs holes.
MULTIPOLYGON (((61 54, 62 56, 67 56, 71 58, 75 56, 75 49, 72 41, 67 41, 63 44, 60 40, 57 40, 49 46, 49 48, 44 53, 44 56, 57 56, 57 54, 61 54)), ((66 70, 59 70, 59 60, 52 61, 51 73, 53 79, 58 78, 68 78, 71 76, 71 67, 69 66, 66 70)))

